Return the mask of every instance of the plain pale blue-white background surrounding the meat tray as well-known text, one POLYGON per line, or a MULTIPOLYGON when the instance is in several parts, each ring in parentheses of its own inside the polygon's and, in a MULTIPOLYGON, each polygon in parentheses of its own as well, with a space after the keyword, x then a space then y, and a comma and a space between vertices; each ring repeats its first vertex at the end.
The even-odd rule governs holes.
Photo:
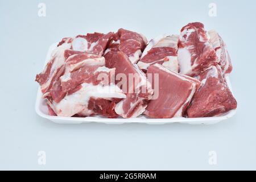
POLYGON ((255 2, 0 0, 0 169, 256 169, 255 2), (46 17, 38 4, 46 3, 46 17), (57 125, 35 113, 48 47, 123 27, 148 39, 200 21, 220 32, 234 70, 237 114, 217 125, 57 125), (38 152, 46 152, 46 165, 38 152), (208 153, 216 151, 217 164, 208 153))

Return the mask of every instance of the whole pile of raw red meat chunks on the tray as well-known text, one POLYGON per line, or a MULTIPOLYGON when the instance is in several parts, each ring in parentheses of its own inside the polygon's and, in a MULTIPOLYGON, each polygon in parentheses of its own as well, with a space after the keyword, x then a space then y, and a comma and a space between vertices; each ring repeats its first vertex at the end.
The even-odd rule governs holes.
POLYGON ((123 28, 64 38, 36 81, 50 115, 195 118, 236 109, 231 71, 221 36, 196 22, 150 42, 123 28))

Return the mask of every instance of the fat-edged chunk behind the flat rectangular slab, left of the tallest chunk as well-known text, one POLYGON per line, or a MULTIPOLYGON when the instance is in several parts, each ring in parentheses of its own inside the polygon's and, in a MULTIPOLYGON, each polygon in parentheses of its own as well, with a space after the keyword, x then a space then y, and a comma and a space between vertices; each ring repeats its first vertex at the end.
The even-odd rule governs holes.
POLYGON ((151 64, 162 64, 164 67, 178 72, 179 65, 177 60, 178 35, 158 36, 150 40, 144 49, 138 67, 146 72, 151 64))

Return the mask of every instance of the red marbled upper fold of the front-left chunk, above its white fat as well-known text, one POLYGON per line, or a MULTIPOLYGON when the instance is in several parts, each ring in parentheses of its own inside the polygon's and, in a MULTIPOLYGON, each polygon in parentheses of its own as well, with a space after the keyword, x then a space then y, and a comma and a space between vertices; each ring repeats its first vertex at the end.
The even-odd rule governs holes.
POLYGON ((72 93, 82 82, 90 82, 95 76, 92 74, 98 67, 104 66, 104 57, 81 53, 70 56, 53 78, 53 85, 49 95, 55 102, 60 102, 67 93, 72 93))

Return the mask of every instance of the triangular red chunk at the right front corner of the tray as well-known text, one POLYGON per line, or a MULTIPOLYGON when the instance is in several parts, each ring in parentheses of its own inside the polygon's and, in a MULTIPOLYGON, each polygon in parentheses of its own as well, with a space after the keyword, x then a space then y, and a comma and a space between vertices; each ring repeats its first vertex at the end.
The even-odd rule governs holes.
POLYGON ((230 92, 219 65, 198 76, 202 82, 187 110, 189 118, 213 117, 236 109, 237 101, 230 92))

